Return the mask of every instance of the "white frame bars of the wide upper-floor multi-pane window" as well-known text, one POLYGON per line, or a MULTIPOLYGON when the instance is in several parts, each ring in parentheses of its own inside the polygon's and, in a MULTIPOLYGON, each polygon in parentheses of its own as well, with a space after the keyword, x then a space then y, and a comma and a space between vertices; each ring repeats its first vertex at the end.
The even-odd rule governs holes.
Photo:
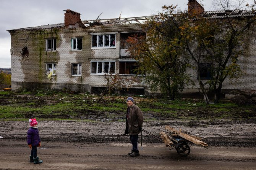
POLYGON ((91 41, 91 48, 92 49, 100 49, 100 48, 116 48, 116 42, 117 42, 117 34, 116 33, 106 33, 106 34, 92 34, 92 41, 91 41), (106 40, 106 36, 108 35, 108 44, 109 46, 105 46, 105 40, 106 40), (111 40, 113 40, 113 38, 111 38, 111 35, 115 35, 114 38, 114 44, 115 46, 111 46, 111 40), (94 40, 94 36, 96 36, 96 41, 94 40), (102 46, 99 46, 99 36, 102 36, 102 46), (92 46, 94 43, 97 44, 97 46, 92 46))

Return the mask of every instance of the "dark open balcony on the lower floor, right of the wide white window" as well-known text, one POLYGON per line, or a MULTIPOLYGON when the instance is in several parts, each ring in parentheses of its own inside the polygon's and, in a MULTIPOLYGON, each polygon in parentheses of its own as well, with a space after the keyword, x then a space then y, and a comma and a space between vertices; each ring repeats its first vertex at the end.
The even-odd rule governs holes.
POLYGON ((119 62, 119 74, 126 75, 142 75, 139 70, 137 61, 120 61, 119 62))

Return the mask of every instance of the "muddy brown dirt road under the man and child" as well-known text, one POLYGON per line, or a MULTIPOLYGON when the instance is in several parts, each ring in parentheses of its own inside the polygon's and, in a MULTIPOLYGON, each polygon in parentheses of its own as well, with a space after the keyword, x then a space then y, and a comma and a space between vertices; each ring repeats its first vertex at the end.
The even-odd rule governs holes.
POLYGON ((26 144, 28 122, 0 121, 0 169, 255 170, 255 121, 146 121, 143 127, 159 135, 165 125, 207 137, 203 141, 208 148, 193 145, 187 157, 180 157, 175 149, 143 133, 143 149, 133 158, 128 156, 129 137, 123 135, 125 122, 40 121, 42 148, 37 154, 44 162, 34 165, 29 163, 26 144))

